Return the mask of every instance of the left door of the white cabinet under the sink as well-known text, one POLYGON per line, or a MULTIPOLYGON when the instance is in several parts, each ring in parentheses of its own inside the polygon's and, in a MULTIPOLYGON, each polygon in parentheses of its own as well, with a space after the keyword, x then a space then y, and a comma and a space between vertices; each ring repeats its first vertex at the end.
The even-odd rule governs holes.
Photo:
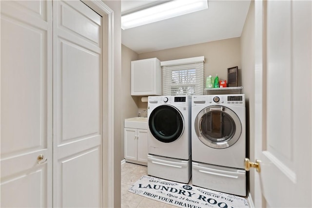
POLYGON ((125 159, 137 160, 137 129, 125 128, 125 159))

